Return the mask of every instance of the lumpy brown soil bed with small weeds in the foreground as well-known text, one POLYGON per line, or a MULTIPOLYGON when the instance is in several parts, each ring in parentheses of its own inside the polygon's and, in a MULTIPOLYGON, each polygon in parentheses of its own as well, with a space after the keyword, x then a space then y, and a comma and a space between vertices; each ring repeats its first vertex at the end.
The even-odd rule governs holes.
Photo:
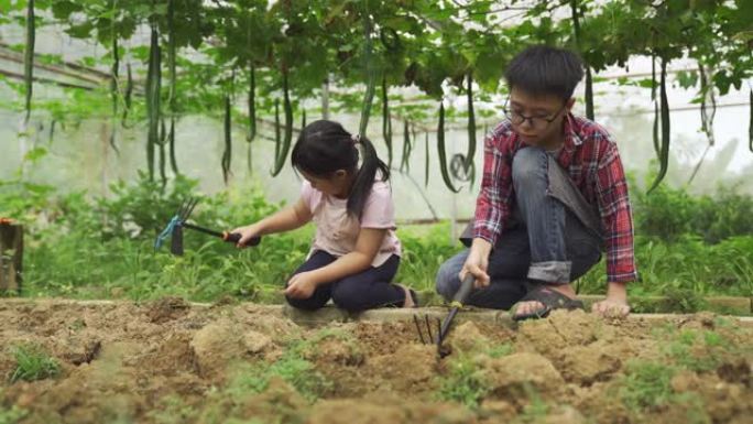
MULTIPOLYGON (((607 322, 557 311, 516 330, 458 323, 452 355, 439 359, 412 322, 310 328, 257 305, 188 306, 0 303, 0 343, 39 346, 61 367, 56 378, 3 380, 0 402, 23 424, 746 423, 753 414, 753 331, 709 314, 607 322)), ((3 377, 17 367, 0 350, 3 377)))

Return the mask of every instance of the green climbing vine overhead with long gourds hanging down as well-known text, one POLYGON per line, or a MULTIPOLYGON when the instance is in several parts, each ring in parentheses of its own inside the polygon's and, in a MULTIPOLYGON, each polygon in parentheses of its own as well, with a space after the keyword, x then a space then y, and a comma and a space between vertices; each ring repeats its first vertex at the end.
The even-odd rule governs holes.
MULTIPOLYGON (((290 152, 295 115, 303 115, 301 102, 321 97, 327 81, 332 87, 327 101, 331 97, 338 110, 360 112, 361 133, 372 128, 368 127, 372 104, 374 97, 380 99, 390 162, 393 120, 403 121, 404 139, 411 140, 411 146, 416 137, 408 132, 416 128, 446 129, 445 120, 465 123, 468 141, 456 164, 449 163, 454 156, 445 151, 444 134, 438 134, 433 155, 445 184, 456 189, 460 176, 473 177, 476 124, 484 116, 478 100, 488 101, 505 89, 500 84, 502 72, 514 54, 527 45, 547 43, 569 46, 583 57, 586 111, 597 119, 594 74, 608 66, 626 66, 635 55, 655 59, 658 72, 653 77, 620 81, 644 87, 646 96, 655 99, 659 159, 655 187, 667 173, 672 150, 666 97, 673 61, 688 57, 698 63, 698 72, 677 78, 684 87, 698 89, 710 142, 714 96, 731 87, 740 89, 753 77, 753 1, 749 0, 2 0, 0 9, 0 24, 23 25, 26 33, 20 46, 24 84, 15 86, 24 101, 17 107, 29 116, 35 104, 45 105, 33 96, 34 84, 50 84, 33 72, 40 28, 59 25, 74 39, 101 45, 109 53, 91 58, 80 72, 108 65, 111 112, 101 116, 101 108, 95 107, 86 111, 113 122, 118 117, 123 126, 146 122, 146 164, 152 178, 156 166, 165 174, 165 163, 178 172, 176 126, 190 113, 226 122, 233 113, 243 115, 244 120, 236 122, 247 122, 249 143, 262 135, 260 120, 273 117, 274 135, 265 138, 276 143, 271 172, 279 174, 290 152), (137 30, 149 32, 148 43, 135 36, 137 30), (123 70, 126 80, 121 81, 123 70), (234 84, 228 85, 231 75, 234 84), (411 86, 423 93, 418 100, 411 100, 417 104, 403 102, 394 89, 411 86), (467 111, 444 107, 435 111, 437 101, 462 94, 467 111), (437 126, 440 118, 441 126, 437 126), (165 146, 170 161, 162 156, 156 161, 165 146)), ((89 86, 64 89, 102 95, 89 86)), ((79 99, 84 102, 86 96, 79 99)), ((229 133, 226 143, 228 139, 229 133)), ((407 172, 404 161, 410 150, 404 153, 401 167, 407 172)), ((251 144, 249 161, 250 154, 251 144)), ((220 164, 226 176, 231 157, 226 149, 220 164)))

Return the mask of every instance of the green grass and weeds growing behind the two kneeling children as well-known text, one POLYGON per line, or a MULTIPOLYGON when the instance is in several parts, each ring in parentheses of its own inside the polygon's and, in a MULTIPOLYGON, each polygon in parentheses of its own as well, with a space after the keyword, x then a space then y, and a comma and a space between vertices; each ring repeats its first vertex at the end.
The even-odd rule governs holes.
MULTIPOLYGON (((26 224, 22 295, 135 301, 173 295, 195 302, 230 296, 279 303, 285 281, 304 262, 314 235, 308 226, 266 237, 258 248, 239 251, 186 230, 185 256, 176 258, 168 253, 168 246, 155 253, 154 236, 183 199, 196 195, 196 182, 178 178, 163 188, 142 176, 135 184, 113 185, 112 193, 107 199, 89 198, 83 193, 55 194, 44 186, 0 184, 0 216, 18 217, 26 224)), ((724 208, 713 215, 708 198, 701 207, 694 197, 663 193, 670 197, 666 205, 687 202, 683 214, 695 217, 691 221, 696 224, 669 226, 684 231, 669 233, 654 224, 672 215, 668 206, 657 200, 661 196, 636 196, 635 252, 643 281, 630 284, 630 295, 667 295, 667 307, 678 312, 702 309, 702 296, 753 296, 753 232, 735 218, 750 199, 727 196, 720 199, 724 208), (716 222, 713 235, 702 232, 699 217, 716 222)), ((282 206, 265 200, 259 187, 236 188, 205 196, 193 219, 228 229, 253 222, 282 206)), ((396 281, 434 291, 440 264, 461 250, 460 244, 450 242, 448 232, 448 222, 400 228, 404 254, 396 281)), ((605 281, 602 261, 576 285, 581 294, 600 294, 605 281)))

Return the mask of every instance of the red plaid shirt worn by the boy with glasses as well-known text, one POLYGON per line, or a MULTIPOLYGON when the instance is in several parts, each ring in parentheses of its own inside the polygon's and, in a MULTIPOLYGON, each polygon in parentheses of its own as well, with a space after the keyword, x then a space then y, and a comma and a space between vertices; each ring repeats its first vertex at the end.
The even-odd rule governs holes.
MULTIPOLYGON (((510 121, 499 124, 484 141, 483 178, 476 202, 473 237, 495 244, 504 233, 513 200, 512 160, 524 144, 510 121)), ((618 146, 601 126, 568 115, 565 144, 557 162, 591 205, 598 205, 607 247, 610 282, 637 280, 633 252, 633 218, 628 182, 618 146)))

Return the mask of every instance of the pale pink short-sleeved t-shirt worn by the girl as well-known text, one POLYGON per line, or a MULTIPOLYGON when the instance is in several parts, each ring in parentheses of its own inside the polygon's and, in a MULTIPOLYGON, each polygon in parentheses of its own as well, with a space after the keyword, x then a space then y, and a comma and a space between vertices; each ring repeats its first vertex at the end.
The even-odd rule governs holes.
POLYGON ((395 205, 392 203, 392 191, 386 183, 374 182, 371 194, 363 205, 360 221, 348 214, 348 199, 326 195, 312 187, 307 181, 303 183, 301 197, 308 205, 316 224, 316 236, 309 257, 317 250, 324 250, 335 257, 352 252, 356 250, 361 228, 388 229, 382 246, 371 262, 372 267, 383 264, 392 254, 401 254, 400 240, 395 236, 395 205))

